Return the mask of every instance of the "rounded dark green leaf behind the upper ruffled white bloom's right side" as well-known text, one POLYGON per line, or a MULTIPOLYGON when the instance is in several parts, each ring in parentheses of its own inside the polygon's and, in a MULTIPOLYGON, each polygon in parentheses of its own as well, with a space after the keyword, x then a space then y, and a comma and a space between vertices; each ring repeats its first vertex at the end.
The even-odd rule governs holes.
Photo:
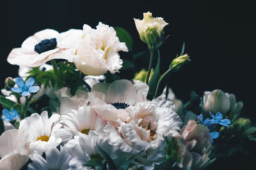
POLYGON ((125 45, 132 51, 132 37, 125 29, 121 27, 115 27, 116 36, 118 36, 120 42, 125 42, 125 45))

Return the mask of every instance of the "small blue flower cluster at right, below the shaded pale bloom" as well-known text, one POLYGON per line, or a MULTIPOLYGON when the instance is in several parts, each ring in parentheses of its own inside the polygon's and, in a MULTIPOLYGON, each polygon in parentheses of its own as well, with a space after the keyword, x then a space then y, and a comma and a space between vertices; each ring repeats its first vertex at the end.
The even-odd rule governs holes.
POLYGON ((210 118, 206 118, 204 121, 204 115, 201 113, 198 116, 198 121, 205 125, 206 127, 208 127, 209 131, 210 131, 210 135, 211 135, 211 141, 213 142, 213 139, 216 139, 220 136, 220 132, 212 132, 213 129, 213 125, 214 124, 220 124, 223 125, 225 127, 228 127, 229 124, 231 124, 231 121, 227 118, 223 119, 223 115, 218 112, 216 113, 216 117, 214 117, 214 115, 210 112, 210 115, 212 117, 212 119, 210 118))

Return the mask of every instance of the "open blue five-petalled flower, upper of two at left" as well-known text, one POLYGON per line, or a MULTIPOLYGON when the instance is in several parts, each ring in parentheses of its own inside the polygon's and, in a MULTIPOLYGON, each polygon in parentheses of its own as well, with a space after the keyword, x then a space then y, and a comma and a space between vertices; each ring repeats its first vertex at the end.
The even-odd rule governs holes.
POLYGON ((13 87, 11 90, 15 93, 21 93, 21 96, 29 96, 30 93, 36 93, 40 89, 39 86, 33 86, 35 83, 35 78, 29 78, 26 83, 22 78, 15 78, 15 83, 18 87, 13 87))

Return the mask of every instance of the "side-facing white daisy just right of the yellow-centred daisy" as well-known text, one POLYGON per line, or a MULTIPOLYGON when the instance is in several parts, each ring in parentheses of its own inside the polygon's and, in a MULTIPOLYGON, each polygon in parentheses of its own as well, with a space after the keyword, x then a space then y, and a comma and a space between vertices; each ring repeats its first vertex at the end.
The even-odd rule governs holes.
POLYGON ((63 127, 74 135, 88 134, 89 131, 101 129, 104 126, 100 118, 91 106, 82 106, 78 110, 72 110, 67 115, 61 116, 63 127))

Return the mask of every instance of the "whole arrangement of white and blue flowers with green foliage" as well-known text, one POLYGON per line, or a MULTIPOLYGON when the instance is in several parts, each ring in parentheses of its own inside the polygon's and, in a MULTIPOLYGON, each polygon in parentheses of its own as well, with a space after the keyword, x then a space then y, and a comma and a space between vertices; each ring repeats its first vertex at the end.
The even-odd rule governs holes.
POLYGON ((185 46, 161 74, 168 23, 150 12, 134 23, 150 58, 137 56, 148 70, 132 78, 122 76, 136 67, 122 59, 131 36, 101 22, 45 29, 10 52, 20 68, 0 96, 1 169, 205 169, 256 140, 234 94, 177 99, 166 80, 188 64, 185 46))

